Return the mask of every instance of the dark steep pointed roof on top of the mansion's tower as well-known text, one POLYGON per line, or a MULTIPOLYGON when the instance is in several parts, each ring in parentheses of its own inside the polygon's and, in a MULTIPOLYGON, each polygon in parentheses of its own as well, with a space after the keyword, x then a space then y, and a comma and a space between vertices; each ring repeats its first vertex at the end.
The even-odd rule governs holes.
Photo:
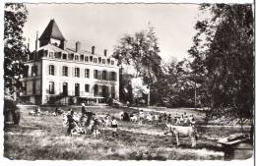
POLYGON ((48 26, 44 29, 41 36, 39 37, 39 40, 45 40, 50 38, 65 40, 54 20, 51 20, 48 26))

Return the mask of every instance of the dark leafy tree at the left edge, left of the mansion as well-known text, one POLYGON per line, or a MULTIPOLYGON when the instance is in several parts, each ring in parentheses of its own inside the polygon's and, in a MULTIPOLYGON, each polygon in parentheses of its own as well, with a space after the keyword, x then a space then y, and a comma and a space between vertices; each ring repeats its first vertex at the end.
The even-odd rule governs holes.
POLYGON ((4 87, 5 93, 14 94, 22 88, 21 77, 27 68, 24 61, 28 50, 24 44, 23 27, 28 11, 23 4, 6 3, 4 11, 4 87))

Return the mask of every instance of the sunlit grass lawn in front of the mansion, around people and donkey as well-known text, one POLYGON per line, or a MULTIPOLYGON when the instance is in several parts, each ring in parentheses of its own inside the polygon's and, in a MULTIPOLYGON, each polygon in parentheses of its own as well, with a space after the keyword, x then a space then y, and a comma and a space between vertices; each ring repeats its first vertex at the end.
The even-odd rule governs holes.
MULTIPOLYGON (((68 110, 69 107, 63 108, 68 110)), ((75 108, 80 111, 80 108, 75 108)), ((123 109, 111 107, 89 108, 96 114, 117 115, 123 109)), ((196 148, 191 148, 188 138, 181 138, 181 146, 175 146, 171 136, 148 135, 140 131, 162 133, 157 124, 138 125, 132 122, 119 123, 119 137, 112 138, 111 131, 101 130, 101 137, 91 135, 66 137, 67 127, 62 125, 61 116, 29 116, 30 108, 22 108, 19 126, 5 130, 4 156, 25 160, 222 160, 224 152, 216 141, 208 138, 223 138, 235 130, 199 129, 200 136, 196 148), (135 132, 134 132, 135 131, 135 132), (137 131, 137 132, 136 132, 137 131)), ((43 107, 42 111, 53 111, 43 107)), ((190 113, 190 112, 187 112, 190 113)), ((203 115, 197 112, 196 118, 203 115)))

